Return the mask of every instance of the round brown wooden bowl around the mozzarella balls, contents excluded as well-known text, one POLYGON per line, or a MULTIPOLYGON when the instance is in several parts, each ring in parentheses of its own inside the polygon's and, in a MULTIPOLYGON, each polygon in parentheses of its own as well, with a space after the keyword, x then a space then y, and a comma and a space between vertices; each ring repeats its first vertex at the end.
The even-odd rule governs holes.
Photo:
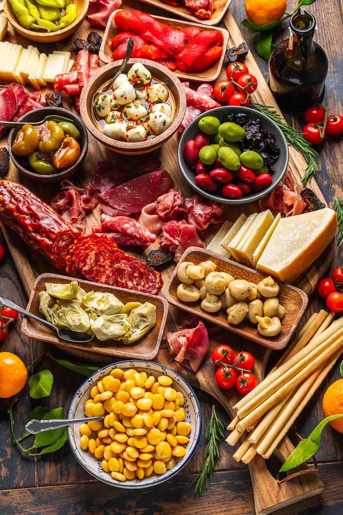
POLYGON ((93 122, 92 110, 94 94, 106 81, 114 77, 119 66, 122 64, 121 60, 114 61, 110 64, 106 64, 106 66, 103 66, 102 68, 99 68, 99 70, 92 75, 92 80, 88 80, 88 82, 86 82, 80 98, 80 114, 89 132, 91 132, 100 143, 105 145, 110 150, 128 155, 152 152, 156 148, 160 147, 176 132, 186 112, 186 94, 184 87, 175 76, 175 74, 168 70, 168 68, 165 66, 162 66, 159 63, 155 63, 154 61, 150 61, 149 59, 130 59, 122 73, 127 73, 130 70, 132 64, 138 62, 142 63, 148 68, 153 78, 158 79, 161 82, 166 82, 168 84, 169 90, 174 96, 174 118, 172 120, 171 126, 165 132, 163 132, 163 134, 155 136, 155 138, 151 138, 147 141, 141 141, 139 143, 116 141, 103 134, 93 122))

